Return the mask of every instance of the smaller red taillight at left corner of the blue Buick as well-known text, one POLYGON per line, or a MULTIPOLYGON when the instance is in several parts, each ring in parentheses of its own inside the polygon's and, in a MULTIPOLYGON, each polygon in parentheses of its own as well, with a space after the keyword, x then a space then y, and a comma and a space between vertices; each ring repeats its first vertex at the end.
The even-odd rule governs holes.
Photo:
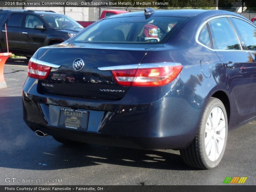
POLYGON ((51 71, 51 67, 36 63, 36 59, 30 59, 28 62, 28 76, 36 79, 46 79, 51 71))

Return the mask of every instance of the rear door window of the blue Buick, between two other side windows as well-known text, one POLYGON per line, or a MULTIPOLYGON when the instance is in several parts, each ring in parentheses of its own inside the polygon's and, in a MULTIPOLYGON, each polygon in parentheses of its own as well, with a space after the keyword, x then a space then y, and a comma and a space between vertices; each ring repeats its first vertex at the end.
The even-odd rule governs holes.
POLYGON ((236 36, 236 33, 231 26, 228 18, 218 18, 209 21, 211 34, 215 41, 214 49, 220 50, 241 50, 239 40, 236 36))

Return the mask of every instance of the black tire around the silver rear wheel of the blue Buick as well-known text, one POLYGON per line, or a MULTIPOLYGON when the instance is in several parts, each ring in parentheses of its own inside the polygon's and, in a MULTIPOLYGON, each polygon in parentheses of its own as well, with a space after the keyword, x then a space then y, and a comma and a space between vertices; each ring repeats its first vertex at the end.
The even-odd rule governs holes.
POLYGON ((199 169, 211 169, 216 167, 220 163, 223 157, 223 154, 225 152, 225 148, 227 144, 227 136, 228 136, 228 118, 227 118, 225 106, 219 99, 211 97, 205 106, 198 131, 196 132, 196 137, 187 148, 180 149, 180 155, 182 157, 182 160, 188 166, 196 167, 199 169), (206 129, 207 119, 214 107, 220 107, 223 111, 225 122, 226 122, 226 132, 225 132, 224 146, 220 153, 220 156, 215 161, 211 161, 206 154, 204 139, 206 135, 205 129, 206 129))

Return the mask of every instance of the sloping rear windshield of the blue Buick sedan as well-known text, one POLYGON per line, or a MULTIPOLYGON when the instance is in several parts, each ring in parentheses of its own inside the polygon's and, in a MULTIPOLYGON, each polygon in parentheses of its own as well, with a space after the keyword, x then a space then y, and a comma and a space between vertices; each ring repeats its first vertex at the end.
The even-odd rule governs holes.
POLYGON ((152 43, 168 40, 186 18, 122 17, 104 19, 70 40, 70 43, 152 43))

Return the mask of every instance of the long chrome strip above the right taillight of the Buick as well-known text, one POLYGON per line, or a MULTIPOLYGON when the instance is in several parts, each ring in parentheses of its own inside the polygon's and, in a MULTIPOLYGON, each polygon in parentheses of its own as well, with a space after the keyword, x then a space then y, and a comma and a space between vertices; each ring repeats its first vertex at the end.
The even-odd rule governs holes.
POLYGON ((101 71, 109 71, 109 70, 122 70, 122 69, 143 69, 143 68, 159 68, 159 67, 173 67, 179 66, 180 63, 176 62, 161 62, 161 63, 142 63, 142 64, 132 64, 132 65, 117 65, 117 66, 109 66, 109 67, 98 67, 101 71))

